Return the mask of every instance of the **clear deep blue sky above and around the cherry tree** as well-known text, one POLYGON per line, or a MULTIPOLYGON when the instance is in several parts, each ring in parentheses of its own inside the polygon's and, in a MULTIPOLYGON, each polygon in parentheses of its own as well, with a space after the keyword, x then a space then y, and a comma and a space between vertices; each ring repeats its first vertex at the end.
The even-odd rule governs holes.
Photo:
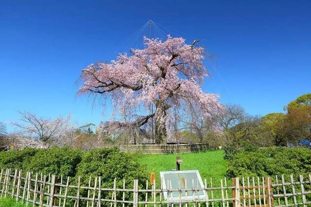
POLYGON ((0 121, 17 121, 16 110, 71 114, 80 125, 108 119, 109 108, 76 96, 75 81, 135 47, 149 19, 217 54, 203 90, 224 104, 265 115, 311 92, 310 0, 10 0, 0 2, 0 121))

